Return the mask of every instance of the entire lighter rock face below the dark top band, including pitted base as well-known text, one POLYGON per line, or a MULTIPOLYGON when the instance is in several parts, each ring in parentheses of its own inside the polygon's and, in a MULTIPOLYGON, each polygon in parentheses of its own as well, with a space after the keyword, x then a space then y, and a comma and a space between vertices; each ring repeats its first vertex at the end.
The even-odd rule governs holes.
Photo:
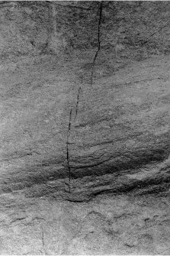
POLYGON ((170 61, 92 54, 1 66, 1 254, 170 252, 170 61))

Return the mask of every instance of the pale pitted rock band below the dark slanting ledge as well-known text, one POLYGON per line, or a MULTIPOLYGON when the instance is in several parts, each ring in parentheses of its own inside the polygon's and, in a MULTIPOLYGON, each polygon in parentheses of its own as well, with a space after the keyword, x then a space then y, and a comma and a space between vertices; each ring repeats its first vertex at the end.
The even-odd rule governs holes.
POLYGON ((100 195, 88 203, 0 196, 1 254, 169 255, 170 201, 100 195))

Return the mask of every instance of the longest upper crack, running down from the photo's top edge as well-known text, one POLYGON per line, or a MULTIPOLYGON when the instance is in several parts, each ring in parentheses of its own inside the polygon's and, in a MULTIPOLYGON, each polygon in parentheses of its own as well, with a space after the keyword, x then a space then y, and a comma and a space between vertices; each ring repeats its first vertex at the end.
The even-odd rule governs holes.
POLYGON ((99 18, 98 18, 98 49, 95 53, 95 57, 92 62, 92 67, 91 67, 91 85, 93 83, 93 75, 94 75, 94 69, 95 69, 95 62, 98 57, 98 53, 101 50, 101 17, 102 17, 102 8, 103 8, 103 2, 101 1, 100 6, 99 6, 99 18))

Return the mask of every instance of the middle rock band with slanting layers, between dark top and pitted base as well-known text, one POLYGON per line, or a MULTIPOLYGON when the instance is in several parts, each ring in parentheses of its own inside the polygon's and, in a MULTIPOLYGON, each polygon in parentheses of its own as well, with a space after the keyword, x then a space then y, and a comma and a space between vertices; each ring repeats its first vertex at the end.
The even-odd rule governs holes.
POLYGON ((52 58, 2 68, 1 193, 168 189, 168 58, 92 85, 78 66, 52 58))

